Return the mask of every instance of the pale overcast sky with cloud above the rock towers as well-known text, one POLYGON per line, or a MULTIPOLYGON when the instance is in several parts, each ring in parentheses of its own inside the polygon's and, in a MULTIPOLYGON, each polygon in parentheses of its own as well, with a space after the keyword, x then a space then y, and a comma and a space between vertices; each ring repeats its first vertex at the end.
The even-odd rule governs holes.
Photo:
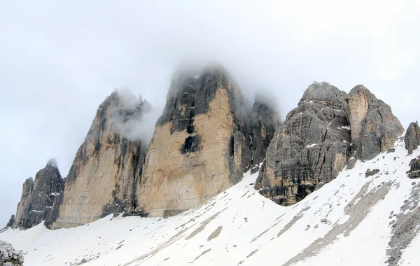
POLYGON ((404 127, 419 116, 420 1, 0 1, 0 228, 22 183, 66 176, 97 106, 130 87, 164 106, 180 62, 221 62, 284 115, 314 80, 363 84, 404 127))

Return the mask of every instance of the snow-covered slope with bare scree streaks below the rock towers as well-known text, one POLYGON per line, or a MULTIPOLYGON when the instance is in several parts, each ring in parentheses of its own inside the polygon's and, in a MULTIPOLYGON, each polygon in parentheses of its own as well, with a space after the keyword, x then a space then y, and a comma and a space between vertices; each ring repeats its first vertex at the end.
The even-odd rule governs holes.
POLYGON ((420 180, 395 152, 358 162, 292 207, 253 189, 258 174, 172 218, 108 216, 78 228, 7 230, 25 265, 419 265, 420 180), (365 177, 366 170, 380 169, 365 177))

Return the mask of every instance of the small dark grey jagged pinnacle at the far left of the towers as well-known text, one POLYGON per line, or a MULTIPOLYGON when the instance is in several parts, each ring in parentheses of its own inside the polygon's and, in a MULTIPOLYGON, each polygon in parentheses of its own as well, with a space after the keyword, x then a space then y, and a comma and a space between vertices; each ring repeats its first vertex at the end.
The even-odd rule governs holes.
POLYGON ((52 205, 63 190, 64 179, 52 159, 36 174, 35 180, 29 178, 23 184, 13 226, 27 229, 48 220, 52 205))

